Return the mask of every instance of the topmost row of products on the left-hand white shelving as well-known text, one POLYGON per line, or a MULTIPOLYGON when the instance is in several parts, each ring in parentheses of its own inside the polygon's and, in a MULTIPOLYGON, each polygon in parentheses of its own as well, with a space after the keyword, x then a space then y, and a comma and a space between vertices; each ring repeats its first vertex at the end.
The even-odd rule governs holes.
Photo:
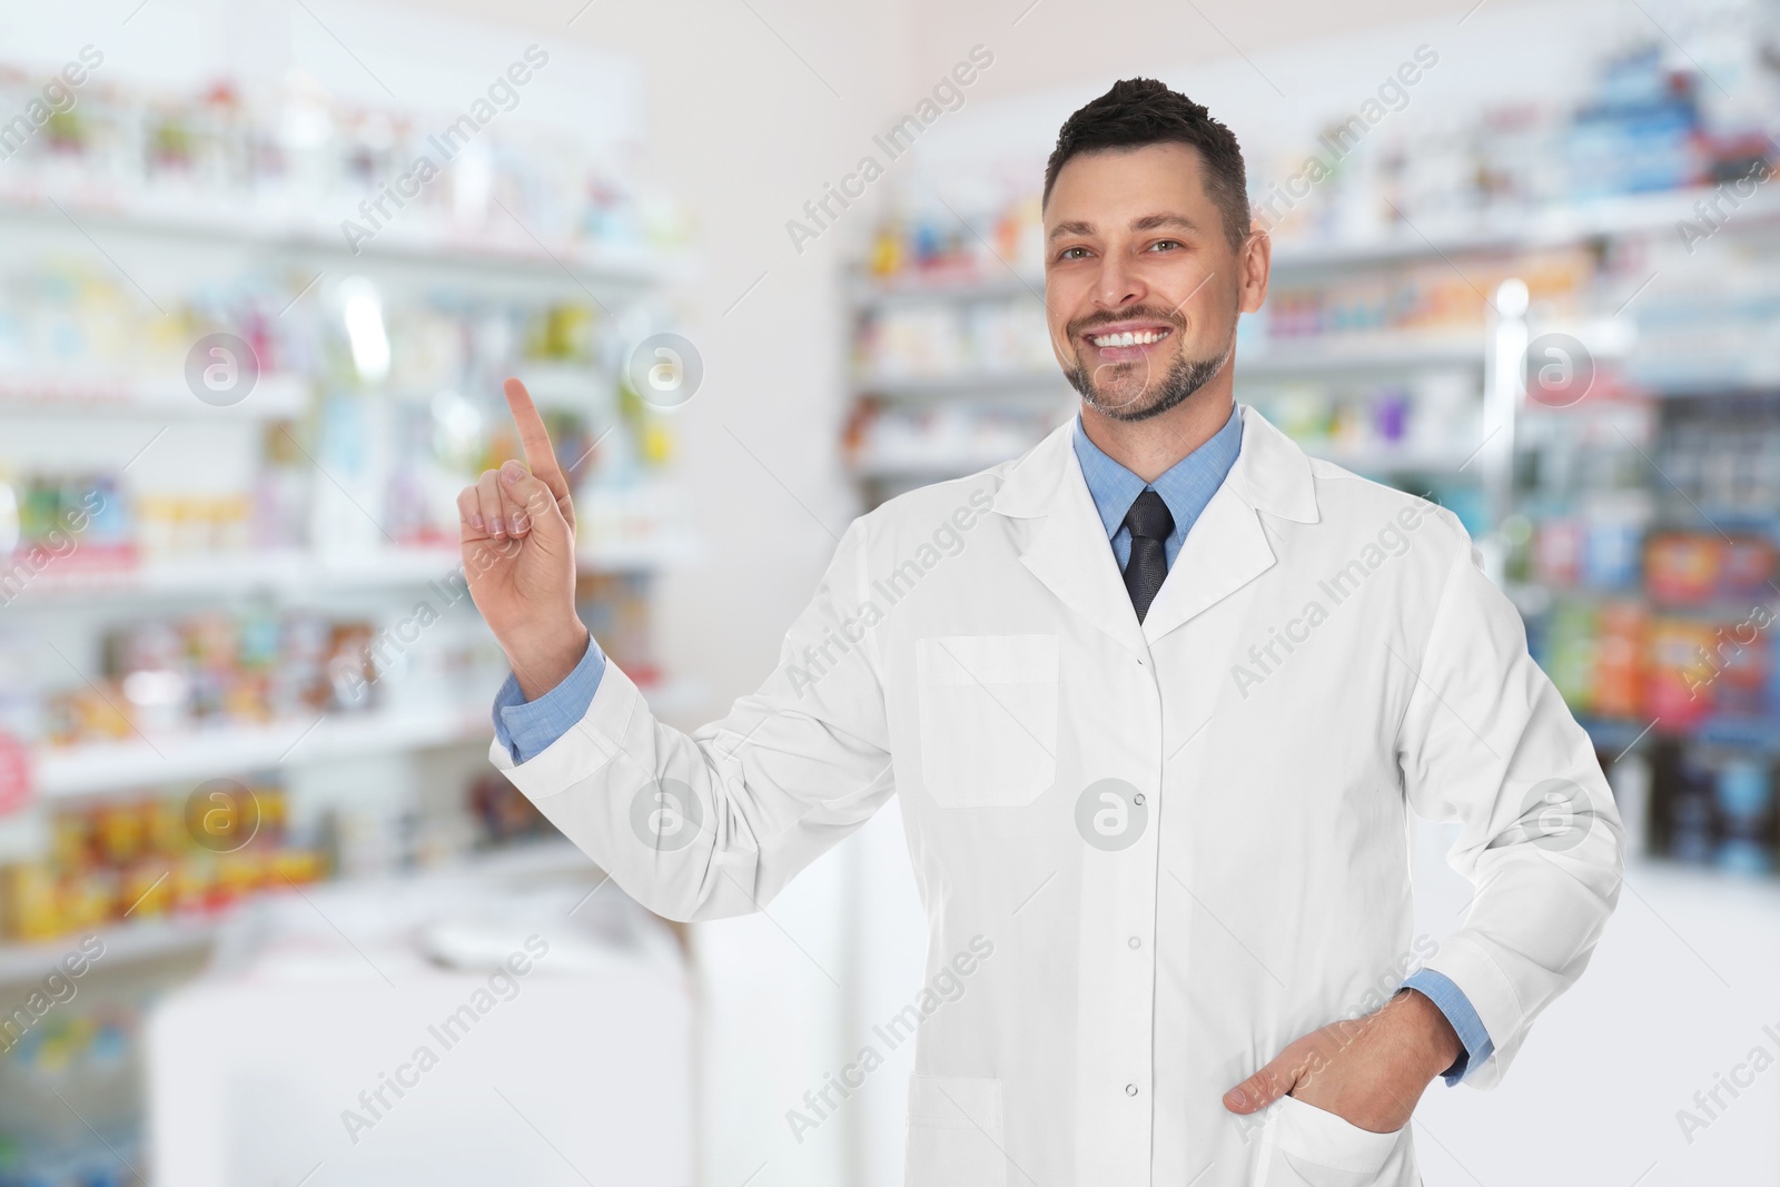
MULTIPOLYGON (((532 121, 497 119, 465 139, 459 112, 347 103, 301 75, 274 87, 167 89, 119 82, 101 66, 103 52, 41 132, 7 144, 9 217, 306 256, 502 272, 573 265, 630 285, 653 283, 659 256, 689 238, 669 198, 532 121), (422 160, 431 167, 415 169, 422 160)), ((532 66, 522 73, 548 61, 532 66)), ((41 87, 0 66, 7 110, 30 110, 41 87)))

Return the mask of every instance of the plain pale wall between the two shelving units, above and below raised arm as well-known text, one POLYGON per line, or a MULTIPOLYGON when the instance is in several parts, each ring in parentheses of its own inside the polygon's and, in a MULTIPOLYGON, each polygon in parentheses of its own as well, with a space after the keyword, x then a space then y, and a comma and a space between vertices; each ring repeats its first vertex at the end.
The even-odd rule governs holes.
MULTIPOLYGON (((801 256, 783 224, 911 101, 901 96, 910 28, 890 5, 815 0, 600 0, 566 28, 578 7, 450 0, 427 11, 522 25, 643 69, 635 173, 691 205, 703 256, 678 299, 705 361, 705 386, 682 413, 684 489, 705 557, 668 582, 659 632, 669 671, 696 673, 712 692, 708 714, 678 723, 698 724, 773 669, 854 514, 835 450, 846 338, 835 279, 844 237, 865 235, 872 215, 847 212, 801 256)), ((847 1182, 849 1119, 803 1144, 785 1123, 849 1048, 844 861, 829 854, 805 872, 771 918, 700 929, 708 1078, 698 1182, 847 1182)))

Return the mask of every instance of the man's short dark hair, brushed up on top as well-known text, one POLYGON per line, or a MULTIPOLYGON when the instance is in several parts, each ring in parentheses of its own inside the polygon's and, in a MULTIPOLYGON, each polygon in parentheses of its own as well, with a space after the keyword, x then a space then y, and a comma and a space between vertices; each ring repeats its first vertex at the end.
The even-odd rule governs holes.
POLYGON ((1045 196, 1057 183, 1063 166, 1080 153, 1098 153, 1148 144, 1187 144, 1200 149, 1205 162, 1205 196, 1223 215, 1225 238, 1232 251, 1248 238, 1248 171, 1235 133, 1212 119, 1202 103, 1155 78, 1120 78, 1112 89, 1080 107, 1057 130, 1057 148, 1045 164, 1045 196))

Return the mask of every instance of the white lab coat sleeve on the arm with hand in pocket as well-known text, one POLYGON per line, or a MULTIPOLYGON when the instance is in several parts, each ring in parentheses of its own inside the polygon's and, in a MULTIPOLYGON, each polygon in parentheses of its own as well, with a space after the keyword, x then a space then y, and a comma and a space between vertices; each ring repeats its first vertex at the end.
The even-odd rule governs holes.
POLYGON ((1413 680, 1397 760, 1410 808, 1461 826, 1447 861, 1474 899, 1426 968, 1490 1032, 1465 1084, 1495 1087, 1533 1020, 1582 975, 1620 897, 1625 833, 1588 733, 1527 653, 1520 614, 1442 518, 1463 548, 1426 644, 1390 658, 1413 680))

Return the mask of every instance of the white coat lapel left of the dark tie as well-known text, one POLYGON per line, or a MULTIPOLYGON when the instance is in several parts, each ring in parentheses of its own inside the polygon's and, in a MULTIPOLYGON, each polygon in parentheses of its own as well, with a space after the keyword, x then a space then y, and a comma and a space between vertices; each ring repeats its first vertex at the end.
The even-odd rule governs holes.
POLYGON ((1029 520, 1020 562, 1066 607, 1139 658, 1150 655, 1105 525, 1064 422, 1022 457, 995 497, 995 511, 1029 520))

